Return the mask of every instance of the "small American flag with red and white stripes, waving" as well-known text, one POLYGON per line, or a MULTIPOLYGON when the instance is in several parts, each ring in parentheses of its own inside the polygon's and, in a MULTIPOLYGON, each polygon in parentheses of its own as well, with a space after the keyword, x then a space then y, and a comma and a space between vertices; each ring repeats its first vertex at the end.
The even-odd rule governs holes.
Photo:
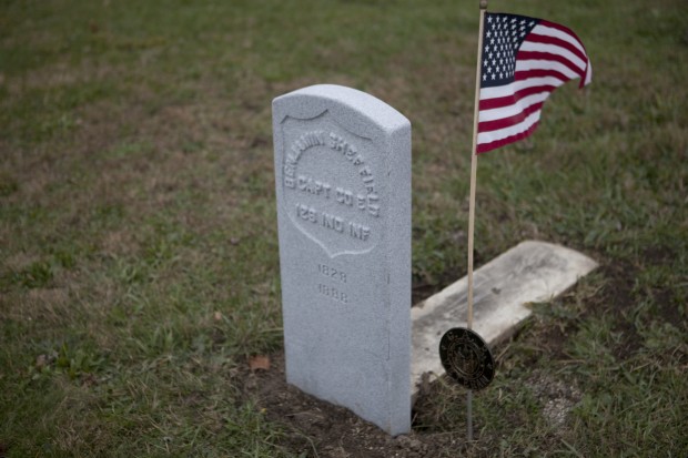
POLYGON ((476 153, 530 135, 549 93, 593 78, 585 48, 570 29, 543 19, 485 13, 476 153))

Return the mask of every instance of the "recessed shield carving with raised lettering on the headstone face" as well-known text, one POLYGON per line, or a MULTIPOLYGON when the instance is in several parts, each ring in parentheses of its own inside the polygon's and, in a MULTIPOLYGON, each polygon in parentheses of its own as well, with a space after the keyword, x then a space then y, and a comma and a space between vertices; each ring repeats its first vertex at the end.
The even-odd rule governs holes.
POLYGON ((382 233, 380 154, 325 111, 282 121, 282 205, 330 257, 370 252, 382 233))

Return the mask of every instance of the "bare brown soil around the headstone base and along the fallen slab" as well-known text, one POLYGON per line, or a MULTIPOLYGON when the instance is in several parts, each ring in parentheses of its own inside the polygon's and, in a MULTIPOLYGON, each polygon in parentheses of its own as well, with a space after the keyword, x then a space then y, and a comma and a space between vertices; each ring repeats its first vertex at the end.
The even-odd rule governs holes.
MULTIPOLYGON (((631 267, 605 265, 599 268, 608 282, 586 305, 581 318, 611 312, 619 313, 631 304, 629 295, 633 282, 628 277, 628 269, 631 267)), ((571 291, 574 295, 577 287, 574 286, 571 291)), ((568 299, 564 297, 561 301, 568 299)), ((532 342, 552 359, 566 358, 564 346, 567 336, 576 332, 576 322, 561 327, 547 318, 536 316, 530 319, 530 326, 527 326, 526 332, 517 332, 510 340, 493 348, 499 365, 510 357, 510 346, 516 340, 532 342)), ((614 352, 620 358, 629 357, 638 350, 638 346, 634 345, 635 330, 618 330, 624 333, 625 338, 614 352)), ((242 377, 244 395, 247 399, 256 401, 256 407, 262 409, 270 421, 283 427, 285 435, 277 444, 293 452, 305 452, 308 457, 323 458, 386 458, 463 455, 488 457, 499 450, 499 437, 495 436, 496 431, 482 432, 484 425, 480 425, 477 418, 474 418, 476 441, 473 445, 465 444, 464 419, 453 417, 438 407, 442 403, 438 403, 437 398, 446 396, 446 384, 452 384, 446 381, 446 378, 443 379, 446 384, 433 383, 421 389, 412 414, 413 431, 409 435, 391 437, 351 410, 320 400, 287 385, 283 353, 272 354, 270 358, 271 365, 267 370, 250 370, 249 365, 244 366, 242 377)), ((524 378, 524 384, 534 393, 542 406, 542 415, 546 417, 555 435, 564 435, 568 429, 569 413, 580 401, 583 394, 570 380, 557 378, 546 370, 533 369, 537 365, 537 355, 519 358, 522 363, 530 366, 524 368, 526 374, 529 374, 524 378)), ((458 391, 461 393, 452 400, 463 404, 463 390, 458 391)), ((477 403, 479 397, 478 393, 477 403)), ((459 410, 462 409, 463 407, 459 410)), ((514 416, 512 427, 515 430, 522 427, 528 428, 528 425, 524 424, 524 418, 514 416)))

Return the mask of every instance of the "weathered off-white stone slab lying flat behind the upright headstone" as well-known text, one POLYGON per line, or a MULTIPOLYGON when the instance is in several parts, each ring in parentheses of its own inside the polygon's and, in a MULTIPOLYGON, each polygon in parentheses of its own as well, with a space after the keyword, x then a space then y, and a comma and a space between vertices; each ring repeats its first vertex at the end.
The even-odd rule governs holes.
MULTIPOLYGON (((474 329, 488 345, 530 316, 525 305, 549 301, 597 267, 589 257, 544 242, 523 242, 475 271, 474 329)), ((412 395, 424 373, 442 376, 438 345, 452 327, 466 326, 466 277, 412 308, 412 395)))

